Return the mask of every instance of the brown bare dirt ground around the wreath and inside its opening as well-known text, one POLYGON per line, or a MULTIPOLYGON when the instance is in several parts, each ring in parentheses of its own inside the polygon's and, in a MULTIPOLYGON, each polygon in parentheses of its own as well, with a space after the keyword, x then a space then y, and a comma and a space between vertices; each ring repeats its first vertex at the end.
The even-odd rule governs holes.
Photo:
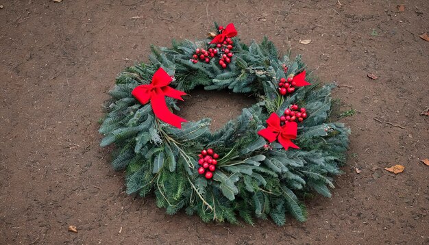
MULTIPOLYGON (((0 1, 0 244, 429 244, 429 167, 419 162, 429 157, 429 119, 419 115, 429 107, 429 42, 419 38, 429 32, 429 1, 260 3, 0 1), (353 131, 345 175, 332 198, 305 201, 307 222, 168 216, 154 198, 127 196, 99 147, 114 77, 147 60, 149 44, 202 37, 212 21, 302 53, 322 81, 343 85, 334 92, 343 110, 357 110, 342 119, 353 131), (383 170, 393 164, 405 171, 383 170)), ((249 103, 193 95, 182 113, 215 118, 215 127, 249 103)))

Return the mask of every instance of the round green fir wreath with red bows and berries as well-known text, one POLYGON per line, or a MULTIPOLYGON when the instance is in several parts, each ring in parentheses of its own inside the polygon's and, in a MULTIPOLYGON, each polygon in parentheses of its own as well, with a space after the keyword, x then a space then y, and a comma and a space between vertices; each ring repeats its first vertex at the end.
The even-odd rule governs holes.
MULTIPOLYGON (((216 24, 215 24, 216 25, 216 24)), ((330 197, 345 161, 350 130, 330 121, 333 84, 320 86, 301 57, 278 56, 264 38, 249 46, 234 25, 202 41, 151 47, 149 64, 126 68, 106 103, 101 146, 113 144, 112 165, 126 171, 127 194, 154 193, 158 207, 209 222, 285 223, 306 211, 299 198, 330 197), (257 103, 211 132, 210 119, 173 114, 196 87, 253 94, 257 103)))

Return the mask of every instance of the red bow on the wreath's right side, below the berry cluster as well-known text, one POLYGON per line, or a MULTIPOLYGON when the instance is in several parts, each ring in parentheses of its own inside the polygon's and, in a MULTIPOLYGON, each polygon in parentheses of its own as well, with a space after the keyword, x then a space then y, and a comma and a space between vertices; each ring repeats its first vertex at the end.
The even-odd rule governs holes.
POLYGON ((270 143, 274 140, 278 140, 285 150, 289 147, 299 149, 299 147, 291 141, 297 138, 297 123, 286 121, 281 127, 280 118, 277 114, 272 113, 267 119, 267 125, 268 127, 266 129, 258 131, 258 135, 266 138, 270 143))

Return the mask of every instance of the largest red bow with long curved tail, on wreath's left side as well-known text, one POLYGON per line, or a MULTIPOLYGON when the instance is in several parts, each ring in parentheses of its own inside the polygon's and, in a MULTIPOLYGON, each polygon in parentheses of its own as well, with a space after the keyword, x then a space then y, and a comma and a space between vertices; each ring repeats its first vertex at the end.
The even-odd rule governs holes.
POLYGON ((131 94, 143 105, 150 100, 156 117, 180 129, 182 127, 180 123, 187 122, 187 120, 170 112, 167 103, 165 103, 164 96, 183 101, 181 96, 186 95, 186 93, 169 87, 168 85, 171 81, 173 81, 173 79, 171 79, 165 70, 159 68, 154 74, 154 77, 152 77, 152 82, 150 84, 137 86, 132 90, 131 94))

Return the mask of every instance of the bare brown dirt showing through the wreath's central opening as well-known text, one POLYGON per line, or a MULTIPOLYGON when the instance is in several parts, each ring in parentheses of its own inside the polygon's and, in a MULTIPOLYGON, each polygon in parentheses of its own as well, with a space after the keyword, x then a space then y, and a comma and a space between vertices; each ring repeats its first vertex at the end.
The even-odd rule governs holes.
POLYGON ((204 90, 197 88, 188 92, 191 96, 184 96, 178 116, 188 121, 197 121, 211 118, 210 130, 214 132, 221 129, 229 120, 234 120, 241 114, 241 110, 252 107, 256 98, 251 94, 234 93, 231 90, 204 90))

